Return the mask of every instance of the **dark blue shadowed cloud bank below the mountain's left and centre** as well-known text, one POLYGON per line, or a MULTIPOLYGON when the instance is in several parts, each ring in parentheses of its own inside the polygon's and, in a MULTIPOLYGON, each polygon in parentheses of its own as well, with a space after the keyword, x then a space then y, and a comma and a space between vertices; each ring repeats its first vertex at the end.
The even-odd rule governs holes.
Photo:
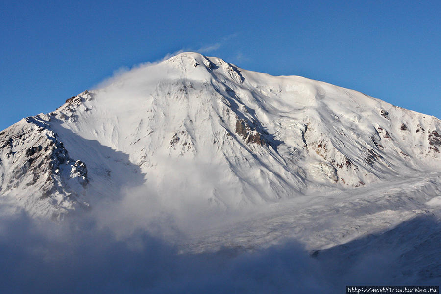
POLYGON ((0 237, 2 293, 308 293, 323 287, 316 264, 296 243, 179 254, 143 231, 117 240, 91 220, 36 223, 22 214, 1 221, 8 224, 0 237), (135 241, 137 248, 129 245, 135 241))

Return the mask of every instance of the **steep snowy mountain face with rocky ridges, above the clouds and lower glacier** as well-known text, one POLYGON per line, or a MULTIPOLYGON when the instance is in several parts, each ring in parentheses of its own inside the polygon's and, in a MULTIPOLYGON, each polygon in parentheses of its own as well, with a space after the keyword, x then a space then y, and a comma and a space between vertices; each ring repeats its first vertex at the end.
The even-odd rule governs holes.
POLYGON ((353 90, 186 53, 2 132, 0 193, 60 214, 152 178, 165 195, 185 167, 172 181, 204 183, 201 201, 249 205, 434 170, 440 134, 438 119, 353 90))

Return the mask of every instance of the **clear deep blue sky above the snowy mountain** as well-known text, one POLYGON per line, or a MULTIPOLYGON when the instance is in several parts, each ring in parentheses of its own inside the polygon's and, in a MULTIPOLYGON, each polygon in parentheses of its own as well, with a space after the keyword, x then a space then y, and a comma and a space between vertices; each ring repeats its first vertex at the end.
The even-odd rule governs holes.
POLYGON ((179 50, 441 118, 441 1, 340 2, 2 0, 0 129, 179 50))

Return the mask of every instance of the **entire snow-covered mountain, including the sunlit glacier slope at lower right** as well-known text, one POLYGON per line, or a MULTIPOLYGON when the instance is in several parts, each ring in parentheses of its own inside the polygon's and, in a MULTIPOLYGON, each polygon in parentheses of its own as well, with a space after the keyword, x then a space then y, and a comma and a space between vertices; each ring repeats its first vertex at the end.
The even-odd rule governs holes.
POLYGON ((326 249, 438 214, 440 166, 433 116, 198 53, 139 66, 0 133, 1 201, 36 217, 93 213, 128 187, 175 210, 259 212, 199 232, 196 251, 286 236, 326 249))

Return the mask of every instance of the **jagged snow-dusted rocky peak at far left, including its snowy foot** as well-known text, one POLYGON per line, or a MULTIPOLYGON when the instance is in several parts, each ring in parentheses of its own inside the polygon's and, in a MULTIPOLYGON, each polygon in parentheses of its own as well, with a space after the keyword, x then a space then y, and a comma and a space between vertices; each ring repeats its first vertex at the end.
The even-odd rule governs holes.
POLYGON ((37 203, 59 217, 78 205, 87 206, 81 199, 87 168, 69 157, 45 119, 49 117, 28 117, 0 133, 0 192, 25 208, 37 203))

